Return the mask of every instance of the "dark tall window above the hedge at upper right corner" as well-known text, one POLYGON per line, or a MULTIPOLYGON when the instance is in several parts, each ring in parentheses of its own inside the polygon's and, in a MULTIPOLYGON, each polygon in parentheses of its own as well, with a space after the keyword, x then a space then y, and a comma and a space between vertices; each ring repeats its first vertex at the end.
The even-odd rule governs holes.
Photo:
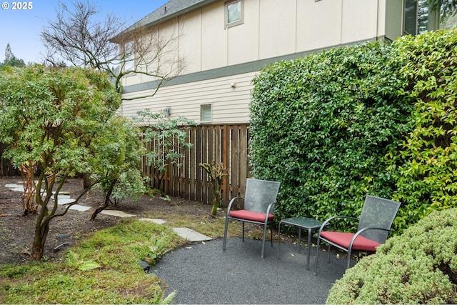
POLYGON ((428 0, 405 0, 403 34, 423 34, 438 29, 438 11, 428 11, 428 0))

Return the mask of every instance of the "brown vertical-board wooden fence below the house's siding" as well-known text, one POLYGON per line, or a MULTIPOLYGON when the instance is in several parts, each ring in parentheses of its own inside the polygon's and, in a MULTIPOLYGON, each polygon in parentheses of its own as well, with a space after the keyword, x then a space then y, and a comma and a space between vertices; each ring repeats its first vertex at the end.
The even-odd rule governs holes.
POLYGON ((201 125, 191 127, 187 133, 191 149, 176 148, 182 155, 181 165, 167 164, 163 179, 158 178, 158 173, 147 165, 144 157, 141 171, 150 178, 151 187, 170 196, 211 203, 211 185, 199 164, 216 161, 226 167, 221 190, 223 205, 227 206, 234 196, 243 196, 246 178, 250 176, 248 125, 201 125))

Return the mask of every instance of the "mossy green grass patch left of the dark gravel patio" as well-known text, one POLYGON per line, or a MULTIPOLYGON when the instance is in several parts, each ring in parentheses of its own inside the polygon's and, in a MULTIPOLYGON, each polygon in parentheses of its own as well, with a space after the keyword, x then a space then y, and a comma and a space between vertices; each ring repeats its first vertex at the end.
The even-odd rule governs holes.
POLYGON ((60 262, 30 261, 0 269, 1 304, 159 304, 161 280, 139 260, 154 264, 186 244, 168 226, 128 219, 97 231, 60 262))

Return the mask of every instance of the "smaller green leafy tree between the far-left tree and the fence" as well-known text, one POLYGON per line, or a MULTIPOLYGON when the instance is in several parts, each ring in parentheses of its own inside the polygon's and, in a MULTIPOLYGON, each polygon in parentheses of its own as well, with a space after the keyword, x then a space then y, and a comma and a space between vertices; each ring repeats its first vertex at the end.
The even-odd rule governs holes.
POLYGON ((94 154, 90 159, 92 180, 99 181, 104 202, 91 216, 96 216, 109 204, 116 205, 132 196, 138 199, 144 193, 144 181, 139 171, 144 148, 140 131, 129 119, 114 116, 104 126, 103 136, 92 143, 94 154))

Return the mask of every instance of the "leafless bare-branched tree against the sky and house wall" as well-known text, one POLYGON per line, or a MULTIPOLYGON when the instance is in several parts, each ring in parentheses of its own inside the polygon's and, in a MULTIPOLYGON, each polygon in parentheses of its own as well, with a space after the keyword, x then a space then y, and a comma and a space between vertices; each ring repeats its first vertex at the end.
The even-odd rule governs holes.
POLYGON ((157 86, 141 99, 154 96, 164 81, 184 69, 179 56, 176 27, 167 35, 155 26, 130 26, 107 15, 98 21, 99 9, 89 0, 76 0, 71 6, 59 1, 56 19, 41 31, 46 46, 46 61, 61 65, 62 59, 74 66, 89 66, 105 71, 122 93, 121 79, 129 74, 150 76, 157 86))

